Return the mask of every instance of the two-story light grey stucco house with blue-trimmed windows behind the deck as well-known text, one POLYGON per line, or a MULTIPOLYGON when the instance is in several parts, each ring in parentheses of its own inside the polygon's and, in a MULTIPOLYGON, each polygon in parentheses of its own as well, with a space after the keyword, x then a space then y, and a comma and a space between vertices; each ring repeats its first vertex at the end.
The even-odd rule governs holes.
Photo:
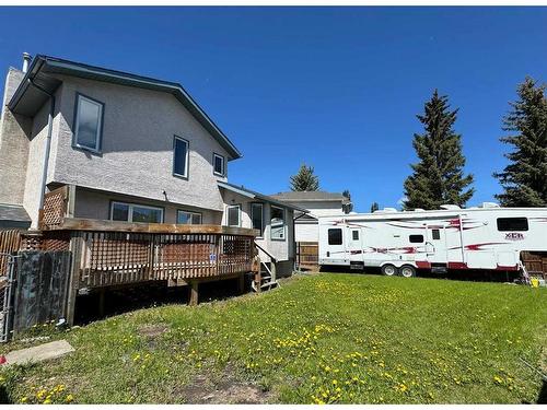
POLYGON ((36 229, 44 195, 68 186, 73 218, 258 229, 263 259, 290 272, 304 210, 229 184, 241 156, 178 83, 24 55, 4 87, 0 229, 36 229))

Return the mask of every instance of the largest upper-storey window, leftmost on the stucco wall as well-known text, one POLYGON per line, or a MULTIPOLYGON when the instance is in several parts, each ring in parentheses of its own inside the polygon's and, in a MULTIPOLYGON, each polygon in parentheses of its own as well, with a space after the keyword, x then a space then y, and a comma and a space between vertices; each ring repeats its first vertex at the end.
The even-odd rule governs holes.
POLYGON ((77 94, 74 117, 74 145, 101 151, 104 104, 77 94))

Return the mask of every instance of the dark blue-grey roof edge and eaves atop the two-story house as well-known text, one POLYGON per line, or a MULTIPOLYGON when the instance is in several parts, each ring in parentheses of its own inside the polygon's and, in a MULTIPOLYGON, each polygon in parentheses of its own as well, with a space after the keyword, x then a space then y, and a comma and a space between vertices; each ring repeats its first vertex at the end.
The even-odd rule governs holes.
POLYGON ((25 116, 34 116, 48 98, 48 95, 44 93, 44 91, 53 93, 61 83, 59 80, 47 74, 72 75, 173 94, 199 124, 201 124, 201 126, 228 151, 231 160, 242 157, 241 152, 235 148, 232 141, 230 141, 220 128, 217 127, 212 119, 209 118, 181 84, 63 60, 56 57, 44 55, 34 57, 21 85, 8 104, 10 110, 25 116), (42 87, 44 91, 32 86, 31 82, 34 82, 34 84, 42 87))

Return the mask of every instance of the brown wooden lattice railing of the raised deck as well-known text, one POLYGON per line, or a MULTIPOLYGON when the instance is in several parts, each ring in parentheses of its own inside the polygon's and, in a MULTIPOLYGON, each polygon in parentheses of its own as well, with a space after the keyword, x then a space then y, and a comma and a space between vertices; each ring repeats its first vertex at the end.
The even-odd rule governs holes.
POLYGON ((251 272, 255 270, 257 233, 220 225, 63 218, 43 232, 43 241, 72 250, 81 289, 150 280, 184 284, 186 280, 251 272))

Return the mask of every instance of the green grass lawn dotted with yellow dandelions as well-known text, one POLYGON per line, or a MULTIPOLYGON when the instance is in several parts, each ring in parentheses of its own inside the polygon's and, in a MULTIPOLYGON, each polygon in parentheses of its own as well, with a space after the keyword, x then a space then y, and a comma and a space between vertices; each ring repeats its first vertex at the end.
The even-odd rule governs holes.
MULTIPOLYGON (((55 335, 75 352, 2 372, 13 402, 536 402, 547 292, 322 273, 55 335)), ((18 345, 19 347, 19 345, 18 345)), ((13 349, 12 344, 3 347, 13 349)))

